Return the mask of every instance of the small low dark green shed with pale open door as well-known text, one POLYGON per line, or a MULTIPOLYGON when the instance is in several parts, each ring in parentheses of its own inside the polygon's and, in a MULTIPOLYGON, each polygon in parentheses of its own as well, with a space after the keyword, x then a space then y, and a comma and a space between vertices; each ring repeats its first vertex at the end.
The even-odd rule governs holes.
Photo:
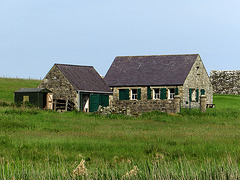
POLYGON ((46 88, 22 88, 14 92, 14 102, 29 102, 40 109, 52 109, 53 94, 46 88))

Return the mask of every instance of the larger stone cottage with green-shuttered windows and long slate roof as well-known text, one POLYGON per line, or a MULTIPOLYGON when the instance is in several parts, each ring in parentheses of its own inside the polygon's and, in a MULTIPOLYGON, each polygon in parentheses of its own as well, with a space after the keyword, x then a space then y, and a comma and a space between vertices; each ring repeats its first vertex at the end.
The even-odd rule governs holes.
POLYGON ((113 91, 111 105, 136 112, 173 112, 176 97, 183 108, 199 108, 201 95, 213 103, 212 85, 198 54, 118 56, 104 80, 113 91))

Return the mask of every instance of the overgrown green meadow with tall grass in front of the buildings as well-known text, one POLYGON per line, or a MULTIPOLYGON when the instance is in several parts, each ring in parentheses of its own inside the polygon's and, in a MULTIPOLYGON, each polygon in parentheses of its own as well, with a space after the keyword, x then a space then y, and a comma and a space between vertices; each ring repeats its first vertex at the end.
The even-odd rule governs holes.
POLYGON ((214 103, 138 117, 2 103, 0 179, 239 179, 240 96, 214 103))

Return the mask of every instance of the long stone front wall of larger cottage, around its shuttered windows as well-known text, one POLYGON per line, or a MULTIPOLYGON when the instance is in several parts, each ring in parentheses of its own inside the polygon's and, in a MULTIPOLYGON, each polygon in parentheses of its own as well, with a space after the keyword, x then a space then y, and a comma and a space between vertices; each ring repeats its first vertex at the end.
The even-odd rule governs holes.
MULTIPOLYGON (((177 86, 152 86, 152 97, 154 88, 176 88, 177 86)), ((178 87, 179 94, 182 94, 182 87, 178 87)), ((147 87, 115 87, 112 88, 113 95, 110 96, 110 107, 113 113, 122 113, 129 111, 130 114, 141 114, 142 112, 149 112, 159 110, 166 113, 178 112, 178 104, 174 99, 151 99, 147 98, 147 87), (120 89, 141 89, 141 100, 119 100, 120 89)), ((131 96, 131 93, 129 93, 131 96)), ((129 97, 131 99, 131 97, 129 97)), ((167 97, 168 98, 168 97, 167 97)))

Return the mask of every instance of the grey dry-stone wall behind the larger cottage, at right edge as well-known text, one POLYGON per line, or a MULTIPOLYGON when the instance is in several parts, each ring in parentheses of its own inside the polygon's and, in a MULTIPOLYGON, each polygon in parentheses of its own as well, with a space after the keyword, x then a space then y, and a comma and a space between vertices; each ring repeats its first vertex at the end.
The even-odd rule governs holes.
POLYGON ((215 94, 240 95, 240 70, 212 70, 210 73, 210 80, 215 94))

